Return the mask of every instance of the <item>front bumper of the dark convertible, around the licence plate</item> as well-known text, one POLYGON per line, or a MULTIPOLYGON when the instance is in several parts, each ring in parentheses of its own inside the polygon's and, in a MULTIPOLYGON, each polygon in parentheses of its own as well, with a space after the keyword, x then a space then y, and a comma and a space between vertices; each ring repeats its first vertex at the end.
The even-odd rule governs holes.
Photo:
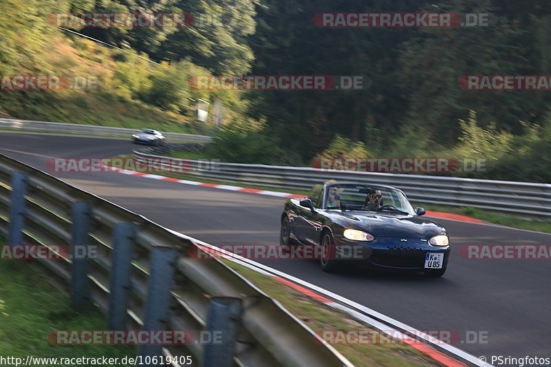
POLYGON ((347 240, 334 235, 335 255, 357 266, 393 271, 425 271, 427 253, 444 253, 448 266, 450 246, 437 247, 417 238, 375 238, 372 242, 347 240))

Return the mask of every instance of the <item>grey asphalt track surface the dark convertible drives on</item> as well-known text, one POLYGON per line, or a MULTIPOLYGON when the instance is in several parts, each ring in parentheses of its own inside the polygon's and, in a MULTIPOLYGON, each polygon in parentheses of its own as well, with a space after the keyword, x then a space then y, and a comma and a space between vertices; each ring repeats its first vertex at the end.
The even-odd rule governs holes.
MULTIPOLYGON (((47 171, 48 158, 128 154, 129 140, 0 132, 0 153, 47 171)), ((165 227, 211 244, 276 244, 284 199, 117 174, 49 172, 165 227)), ((391 182, 389 182, 391 185, 391 182)), ((460 335, 456 346, 490 357, 551 357, 551 260, 468 260, 462 244, 550 244, 551 235, 437 220, 453 247, 446 275, 321 271, 318 262, 263 264, 384 313, 421 331, 460 335), (466 334, 482 338, 466 342, 466 334), (484 338, 487 339, 484 339, 484 338)))

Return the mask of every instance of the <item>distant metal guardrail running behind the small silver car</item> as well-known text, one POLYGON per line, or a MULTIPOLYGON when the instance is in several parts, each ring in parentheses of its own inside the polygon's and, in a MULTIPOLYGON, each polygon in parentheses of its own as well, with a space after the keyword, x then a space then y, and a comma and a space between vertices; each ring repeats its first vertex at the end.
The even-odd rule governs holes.
MULTIPOLYGON (((124 127, 50 123, 47 121, 18 120, 13 118, 0 118, 0 129, 59 134, 85 134, 92 136, 110 136, 128 139, 130 139, 132 134, 136 132, 136 129, 127 129, 124 127)), ((211 140, 210 136, 205 135, 178 134, 174 132, 163 132, 163 135, 167 138, 167 141, 174 143, 208 143, 211 140)))

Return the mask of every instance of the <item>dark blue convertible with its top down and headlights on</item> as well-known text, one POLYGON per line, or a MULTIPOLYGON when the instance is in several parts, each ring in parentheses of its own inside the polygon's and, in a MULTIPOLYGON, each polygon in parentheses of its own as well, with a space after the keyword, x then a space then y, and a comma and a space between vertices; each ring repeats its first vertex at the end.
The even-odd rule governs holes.
POLYGON ((420 218, 424 213, 393 187, 326 183, 314 187, 309 198, 287 201, 280 244, 318 249, 324 271, 353 263, 441 277, 450 256, 448 234, 420 218))

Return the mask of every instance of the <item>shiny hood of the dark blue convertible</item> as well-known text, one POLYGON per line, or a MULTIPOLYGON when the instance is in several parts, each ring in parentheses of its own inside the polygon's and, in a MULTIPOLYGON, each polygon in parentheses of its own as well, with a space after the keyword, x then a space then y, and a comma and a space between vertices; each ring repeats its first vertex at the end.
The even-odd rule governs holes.
POLYGON ((345 211, 334 215, 333 220, 340 222, 343 227, 361 229, 375 237, 428 239, 433 235, 446 233, 441 225, 418 216, 366 211, 345 211))

